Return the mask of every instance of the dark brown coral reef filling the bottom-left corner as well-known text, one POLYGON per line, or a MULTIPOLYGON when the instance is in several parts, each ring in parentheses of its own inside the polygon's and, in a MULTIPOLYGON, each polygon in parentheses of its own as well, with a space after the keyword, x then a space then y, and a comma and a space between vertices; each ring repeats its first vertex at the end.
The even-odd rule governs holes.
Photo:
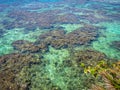
POLYGON ((38 64, 40 56, 32 54, 13 53, 0 57, 0 89, 2 90, 26 90, 29 83, 18 82, 17 74, 22 68, 32 64, 38 64))

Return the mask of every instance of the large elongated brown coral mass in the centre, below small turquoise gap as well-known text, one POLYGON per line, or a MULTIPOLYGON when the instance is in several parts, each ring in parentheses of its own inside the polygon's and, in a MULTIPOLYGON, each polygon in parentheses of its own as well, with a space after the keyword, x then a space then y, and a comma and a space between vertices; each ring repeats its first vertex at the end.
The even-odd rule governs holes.
POLYGON ((54 48, 88 44, 96 39, 98 29, 95 26, 85 25, 67 34, 63 30, 52 30, 40 35, 35 43, 44 42, 46 45, 51 45, 54 48))

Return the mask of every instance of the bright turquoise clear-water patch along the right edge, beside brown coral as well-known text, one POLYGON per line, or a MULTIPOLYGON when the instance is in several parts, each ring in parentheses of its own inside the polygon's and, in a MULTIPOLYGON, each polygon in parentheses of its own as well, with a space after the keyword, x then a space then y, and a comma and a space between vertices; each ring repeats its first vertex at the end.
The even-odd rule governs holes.
POLYGON ((112 41, 120 40, 120 22, 101 23, 101 26, 107 29, 102 31, 103 36, 99 37, 98 41, 93 42, 93 48, 105 53, 110 58, 120 59, 120 51, 111 47, 112 41))

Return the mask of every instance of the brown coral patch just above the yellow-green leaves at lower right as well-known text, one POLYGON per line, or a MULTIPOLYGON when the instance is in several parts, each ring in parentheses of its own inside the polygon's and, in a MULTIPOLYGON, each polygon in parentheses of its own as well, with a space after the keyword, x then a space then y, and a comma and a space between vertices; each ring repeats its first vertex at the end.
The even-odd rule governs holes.
POLYGON ((94 66, 97 65, 101 60, 107 60, 105 54, 94 50, 76 50, 73 53, 71 51, 70 56, 71 61, 77 66, 80 66, 81 63, 83 63, 85 66, 94 66))

